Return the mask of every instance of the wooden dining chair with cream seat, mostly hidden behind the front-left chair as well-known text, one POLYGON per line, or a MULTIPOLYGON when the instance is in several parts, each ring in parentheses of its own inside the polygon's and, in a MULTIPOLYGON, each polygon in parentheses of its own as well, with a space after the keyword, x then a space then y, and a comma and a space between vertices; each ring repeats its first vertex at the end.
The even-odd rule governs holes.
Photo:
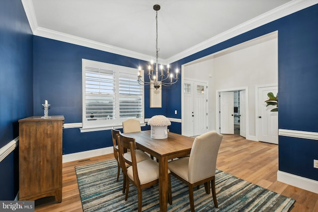
MULTIPOLYGON (((123 169, 123 166, 129 167, 130 165, 127 163, 122 163, 120 162, 120 155, 119 155, 119 145, 120 143, 118 142, 118 136, 119 136, 120 131, 115 130, 114 128, 111 129, 111 136, 113 140, 113 149, 114 149, 114 157, 117 160, 117 181, 119 180, 119 175, 120 175, 120 168, 123 169)), ((136 154, 136 160, 137 162, 143 161, 143 160, 148 160, 151 159, 145 152, 142 150, 137 150, 135 152, 136 154)), ((127 152, 126 149, 124 149, 124 156, 128 159, 131 160, 131 152, 127 152)), ((126 176, 123 176, 123 193, 125 193, 126 190, 126 176)))

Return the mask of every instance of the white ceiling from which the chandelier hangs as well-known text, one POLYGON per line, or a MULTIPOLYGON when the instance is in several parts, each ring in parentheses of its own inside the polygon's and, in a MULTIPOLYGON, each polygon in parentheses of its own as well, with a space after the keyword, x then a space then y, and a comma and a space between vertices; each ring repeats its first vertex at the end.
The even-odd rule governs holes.
POLYGON ((213 40, 220 42, 257 27, 257 23, 262 25, 282 17, 290 13, 287 10, 291 7, 307 7, 305 1, 22 0, 35 35, 78 40, 85 42, 84 46, 99 45, 109 52, 136 54, 135 58, 145 60, 156 57, 153 5, 159 4, 158 47, 163 61, 202 50, 213 40))

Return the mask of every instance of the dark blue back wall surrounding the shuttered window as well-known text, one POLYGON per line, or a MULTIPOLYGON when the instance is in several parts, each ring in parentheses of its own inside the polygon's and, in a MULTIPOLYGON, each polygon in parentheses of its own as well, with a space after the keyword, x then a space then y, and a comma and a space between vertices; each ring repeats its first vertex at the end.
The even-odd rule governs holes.
MULTIPOLYGON (((48 100, 50 115, 64 115, 65 123, 82 122, 82 59, 136 69, 148 65, 146 61, 38 36, 34 36, 33 43, 34 115, 43 114, 41 104, 48 100)), ((166 113, 169 89, 162 88, 162 108, 149 108, 150 90, 145 86, 145 118, 166 113)), ((143 127, 147 129, 148 126, 143 127)), ((175 132, 180 132, 179 128, 175 132)), ((80 133, 79 128, 63 131, 64 154, 111 145, 110 131, 80 133)))

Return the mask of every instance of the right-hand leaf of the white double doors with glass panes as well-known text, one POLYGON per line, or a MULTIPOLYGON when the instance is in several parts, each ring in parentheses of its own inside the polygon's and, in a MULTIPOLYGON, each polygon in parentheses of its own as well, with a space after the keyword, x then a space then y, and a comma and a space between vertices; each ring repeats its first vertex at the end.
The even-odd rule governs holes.
POLYGON ((194 82, 194 101, 193 101, 193 135, 199 136, 208 130, 207 114, 207 83, 194 82))

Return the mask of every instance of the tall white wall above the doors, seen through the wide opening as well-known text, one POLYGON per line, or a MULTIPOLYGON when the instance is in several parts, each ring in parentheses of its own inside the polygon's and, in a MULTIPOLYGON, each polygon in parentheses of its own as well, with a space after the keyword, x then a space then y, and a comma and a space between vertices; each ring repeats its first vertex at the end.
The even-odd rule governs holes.
POLYGON ((278 84, 277 32, 255 38, 184 66, 185 79, 208 81, 209 130, 216 130, 216 91, 248 87, 246 138, 255 137, 255 86, 278 84))

